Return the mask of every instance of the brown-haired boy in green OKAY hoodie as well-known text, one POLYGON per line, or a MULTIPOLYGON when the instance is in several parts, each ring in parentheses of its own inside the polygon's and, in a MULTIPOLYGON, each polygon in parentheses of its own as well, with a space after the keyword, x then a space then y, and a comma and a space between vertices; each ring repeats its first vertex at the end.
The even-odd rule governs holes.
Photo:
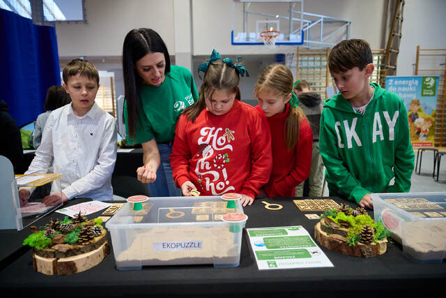
POLYGON ((415 155, 406 107, 397 94, 369 83, 374 64, 365 40, 342 40, 328 66, 339 89, 321 116, 319 149, 328 189, 372 209, 371 193, 410 190, 415 155))

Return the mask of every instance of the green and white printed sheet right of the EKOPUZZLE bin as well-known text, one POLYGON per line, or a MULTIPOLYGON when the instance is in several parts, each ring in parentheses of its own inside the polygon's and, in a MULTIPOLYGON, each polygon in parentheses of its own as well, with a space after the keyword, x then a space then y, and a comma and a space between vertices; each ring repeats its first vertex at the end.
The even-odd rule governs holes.
POLYGON ((333 267, 301 225, 246 230, 259 270, 333 267))

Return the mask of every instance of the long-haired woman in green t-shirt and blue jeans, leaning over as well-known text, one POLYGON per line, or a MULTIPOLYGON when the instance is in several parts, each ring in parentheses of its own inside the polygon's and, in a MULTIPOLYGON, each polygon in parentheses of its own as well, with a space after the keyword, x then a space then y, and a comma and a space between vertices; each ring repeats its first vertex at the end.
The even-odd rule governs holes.
POLYGON ((164 41, 152 29, 133 29, 123 45, 124 121, 129 144, 141 144, 143 165, 137 178, 154 197, 181 195, 169 155, 176 121, 198 98, 187 68, 171 66, 164 41))

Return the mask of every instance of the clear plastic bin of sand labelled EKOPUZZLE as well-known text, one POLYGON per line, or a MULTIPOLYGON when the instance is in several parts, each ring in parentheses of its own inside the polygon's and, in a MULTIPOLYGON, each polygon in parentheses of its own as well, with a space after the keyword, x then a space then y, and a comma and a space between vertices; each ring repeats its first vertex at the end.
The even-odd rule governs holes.
POLYGON ((137 211, 134 203, 126 203, 105 223, 117 269, 194 264, 237 267, 245 222, 221 220, 223 214, 243 213, 240 201, 235 203, 227 208, 228 202, 215 196, 150 198, 137 211))

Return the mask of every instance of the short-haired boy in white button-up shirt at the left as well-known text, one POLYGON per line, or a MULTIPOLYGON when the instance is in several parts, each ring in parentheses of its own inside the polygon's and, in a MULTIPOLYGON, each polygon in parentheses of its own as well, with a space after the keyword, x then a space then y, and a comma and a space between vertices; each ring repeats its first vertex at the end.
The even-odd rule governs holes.
MULTIPOLYGON (((98 70, 89 61, 74 59, 63 68, 62 76, 72 103, 49 115, 40 147, 25 174, 52 165, 59 167, 62 192, 47 195, 43 199, 47 205, 79 196, 113 200, 116 121, 95 104, 98 70)), ((32 191, 33 188, 20 188, 21 205, 28 202, 32 191)))

